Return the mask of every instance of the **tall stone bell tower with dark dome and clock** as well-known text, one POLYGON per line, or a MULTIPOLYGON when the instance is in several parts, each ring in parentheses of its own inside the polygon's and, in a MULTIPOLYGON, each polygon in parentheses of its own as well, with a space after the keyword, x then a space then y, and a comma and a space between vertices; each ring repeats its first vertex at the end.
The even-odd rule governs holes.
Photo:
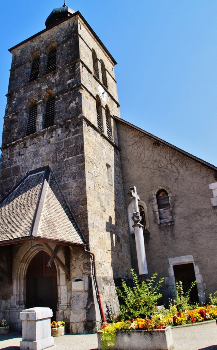
MULTIPOLYGON (((65 3, 51 12, 45 25, 40 33, 9 50, 13 58, 1 148, 0 195, 4 203, 5 196, 26 175, 49 168, 83 239, 83 243, 72 242, 68 261, 61 245, 65 232, 60 230, 62 237, 58 239, 54 233, 50 238, 52 244, 61 246, 53 260, 59 256, 63 264, 67 260, 70 265, 69 276, 61 272, 62 277, 58 277, 57 271, 56 319, 68 323, 73 333, 85 333, 97 329, 100 313, 92 260, 83 248, 95 257, 104 314, 106 304, 117 313, 115 281, 129 276, 131 268, 114 121, 114 116, 119 117, 116 61, 83 16, 65 3)), ((43 220, 52 222, 52 217, 44 216, 43 220)), ((16 225, 13 230, 8 243, 4 238, 0 245, 13 245, 12 274, 14 283, 19 284, 17 255, 23 249, 19 259, 24 259, 30 243, 18 240, 14 244, 16 225)), ((24 231, 21 228, 18 236, 22 238, 24 231)), ((31 249, 34 244, 32 241, 31 249)), ((27 266, 29 263, 27 259, 27 266)), ((7 287, 7 307, 0 313, 8 313, 9 319, 12 310, 18 312, 26 305, 25 283, 23 286, 23 290, 15 284, 7 287)), ((13 317, 11 322, 18 329, 17 314, 13 317)))

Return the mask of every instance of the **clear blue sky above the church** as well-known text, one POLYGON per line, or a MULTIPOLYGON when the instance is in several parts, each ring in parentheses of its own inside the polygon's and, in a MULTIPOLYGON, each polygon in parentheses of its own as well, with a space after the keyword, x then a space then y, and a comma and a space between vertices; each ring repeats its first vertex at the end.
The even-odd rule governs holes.
MULTIPOLYGON (((0 135, 11 64, 7 50, 44 29, 51 10, 63 3, 0 0, 0 135)), ((118 62, 121 118, 217 166, 217 1, 66 5, 82 13, 118 62)))

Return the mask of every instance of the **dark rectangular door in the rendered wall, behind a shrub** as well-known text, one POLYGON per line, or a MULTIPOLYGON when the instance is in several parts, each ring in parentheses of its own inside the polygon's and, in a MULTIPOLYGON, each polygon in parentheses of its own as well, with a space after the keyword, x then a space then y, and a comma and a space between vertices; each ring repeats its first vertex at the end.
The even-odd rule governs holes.
MULTIPOLYGON (((182 264, 173 266, 175 280, 182 281, 184 293, 190 288, 191 282, 196 280, 194 272, 194 264, 182 264)), ((190 293, 190 302, 198 302, 198 292, 197 285, 191 290, 190 293)))

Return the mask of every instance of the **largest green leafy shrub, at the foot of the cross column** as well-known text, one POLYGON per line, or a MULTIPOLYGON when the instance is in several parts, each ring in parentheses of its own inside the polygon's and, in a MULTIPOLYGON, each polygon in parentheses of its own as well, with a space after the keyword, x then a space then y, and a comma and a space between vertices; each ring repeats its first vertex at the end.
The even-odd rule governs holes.
POLYGON ((164 281, 161 278, 156 283, 157 273, 154 273, 148 282, 139 282, 137 274, 131 269, 133 278, 133 287, 127 286, 122 280, 122 288, 116 288, 117 295, 120 299, 120 313, 118 320, 126 321, 131 318, 146 317, 150 315, 156 308, 156 303, 162 296, 159 289, 164 281))

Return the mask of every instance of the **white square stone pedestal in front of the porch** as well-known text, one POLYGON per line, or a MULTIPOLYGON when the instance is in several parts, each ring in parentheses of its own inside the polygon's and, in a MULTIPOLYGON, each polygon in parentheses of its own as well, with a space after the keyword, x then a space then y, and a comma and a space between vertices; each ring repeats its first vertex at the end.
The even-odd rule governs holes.
POLYGON ((52 310, 47 307, 35 307, 22 310, 22 341, 20 350, 42 350, 54 345, 51 337, 50 317, 52 310))

